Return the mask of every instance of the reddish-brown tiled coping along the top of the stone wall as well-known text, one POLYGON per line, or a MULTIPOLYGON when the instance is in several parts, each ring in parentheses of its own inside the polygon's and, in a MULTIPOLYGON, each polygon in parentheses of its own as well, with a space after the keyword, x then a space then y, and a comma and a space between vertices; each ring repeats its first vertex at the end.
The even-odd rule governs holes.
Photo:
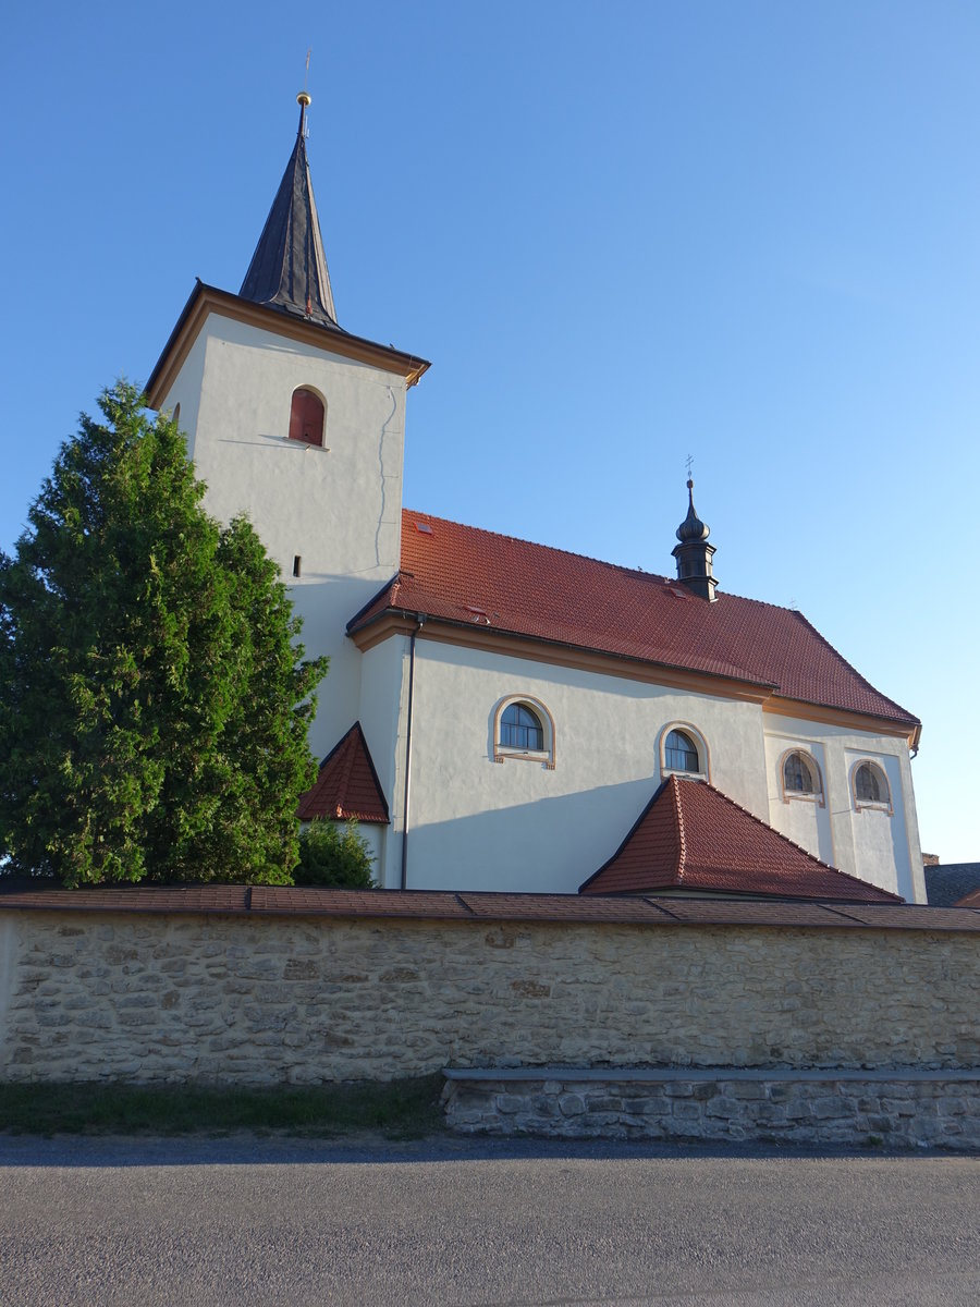
POLYGON ((493 894, 452 890, 329 890, 267 885, 114 889, 4 887, 0 912, 148 912, 230 916, 399 918, 618 925, 763 925, 980 932, 980 910, 668 895, 493 894))

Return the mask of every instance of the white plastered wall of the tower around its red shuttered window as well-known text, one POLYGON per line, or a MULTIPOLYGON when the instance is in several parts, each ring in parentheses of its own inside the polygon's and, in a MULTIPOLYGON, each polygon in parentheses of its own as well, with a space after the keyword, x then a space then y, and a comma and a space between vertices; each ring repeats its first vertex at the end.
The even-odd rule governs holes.
POLYGON ((307 655, 331 657, 310 729, 318 759, 358 716, 346 623, 399 567, 405 389, 397 374, 212 314, 162 405, 180 404, 208 511, 251 519, 290 586, 307 655), (325 401, 324 448, 289 439, 301 386, 325 401))

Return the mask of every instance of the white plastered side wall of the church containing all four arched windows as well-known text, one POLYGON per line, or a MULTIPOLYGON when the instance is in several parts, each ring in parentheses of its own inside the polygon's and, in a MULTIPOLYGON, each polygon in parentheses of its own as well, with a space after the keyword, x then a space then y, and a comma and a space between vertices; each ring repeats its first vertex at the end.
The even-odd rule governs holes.
MULTIPOLYGON (((405 635, 365 655, 362 725, 392 814, 379 868, 385 887, 400 884, 408 668, 405 635)), ((728 797, 840 870, 925 901, 903 740, 436 642, 425 630, 416 646, 408 886, 575 893, 660 784, 660 738, 673 723, 702 736, 710 779, 728 797), (551 714, 554 770, 540 759, 493 761, 494 711, 512 695, 551 714), (793 748, 821 767, 822 806, 783 801, 779 767, 793 748), (891 814, 855 812, 849 770, 858 755, 885 769, 891 814)))

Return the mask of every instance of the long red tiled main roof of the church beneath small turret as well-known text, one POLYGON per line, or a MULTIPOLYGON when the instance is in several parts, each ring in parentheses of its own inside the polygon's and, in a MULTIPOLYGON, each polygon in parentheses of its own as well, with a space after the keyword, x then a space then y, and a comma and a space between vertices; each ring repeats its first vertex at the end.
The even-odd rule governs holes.
POLYGON ((919 725, 792 609, 724 593, 711 604, 664 576, 409 510, 401 571, 348 629, 385 612, 732 677, 804 703, 919 725))

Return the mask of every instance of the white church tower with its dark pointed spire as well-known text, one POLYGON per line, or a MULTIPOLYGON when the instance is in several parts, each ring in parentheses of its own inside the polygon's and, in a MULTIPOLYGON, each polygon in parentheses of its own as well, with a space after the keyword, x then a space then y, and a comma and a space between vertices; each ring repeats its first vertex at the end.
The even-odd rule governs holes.
POLYGON ((306 111, 239 293, 199 281, 146 383, 187 434, 205 507, 244 514, 331 669, 310 744, 351 725, 348 621, 399 570, 408 389, 429 363, 337 323, 306 156, 306 111))

